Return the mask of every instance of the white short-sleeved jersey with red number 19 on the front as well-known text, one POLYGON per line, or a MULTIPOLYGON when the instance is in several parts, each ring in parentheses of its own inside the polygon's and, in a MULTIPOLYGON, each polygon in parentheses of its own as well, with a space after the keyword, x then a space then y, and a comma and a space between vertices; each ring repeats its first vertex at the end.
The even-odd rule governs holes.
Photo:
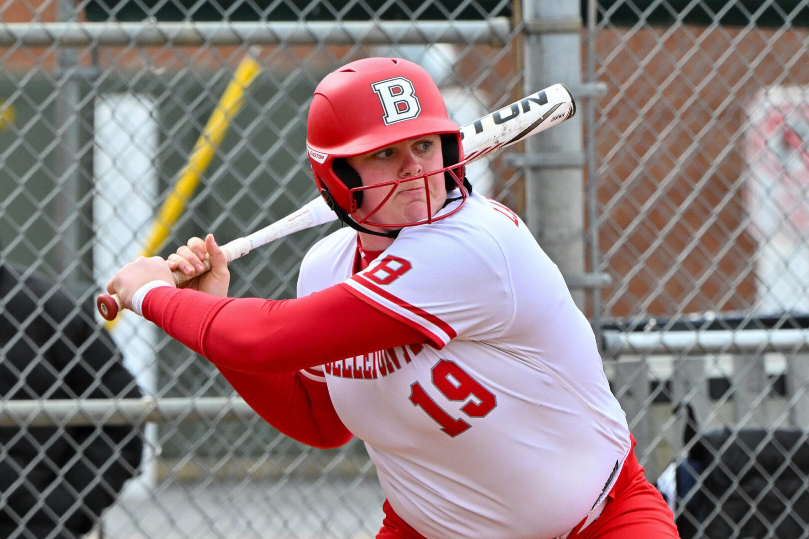
POLYGON ((396 513, 430 539, 570 531, 612 486, 629 430, 587 318, 523 221, 472 194, 352 276, 356 248, 349 228, 318 242, 298 294, 345 282, 429 336, 323 366, 396 513))

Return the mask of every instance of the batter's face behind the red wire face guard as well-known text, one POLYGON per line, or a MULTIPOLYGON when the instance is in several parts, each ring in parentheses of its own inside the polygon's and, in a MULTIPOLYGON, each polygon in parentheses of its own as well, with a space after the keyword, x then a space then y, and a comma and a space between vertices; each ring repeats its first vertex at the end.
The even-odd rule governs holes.
MULTIPOLYGON (((426 135, 411 138, 370 154, 350 157, 348 162, 358 172, 363 186, 417 177, 426 172, 443 168, 441 137, 426 135)), ((390 225, 423 221, 428 217, 427 196, 430 196, 431 212, 433 215, 437 213, 447 200, 444 175, 443 172, 440 172, 427 178, 429 193, 425 188, 423 178, 399 183, 394 188, 392 196, 382 208, 371 216, 369 221, 390 225)), ((356 217, 359 219, 367 217, 384 200, 385 196, 388 196, 391 188, 391 186, 385 186, 364 190, 362 207, 357 210, 356 217)))

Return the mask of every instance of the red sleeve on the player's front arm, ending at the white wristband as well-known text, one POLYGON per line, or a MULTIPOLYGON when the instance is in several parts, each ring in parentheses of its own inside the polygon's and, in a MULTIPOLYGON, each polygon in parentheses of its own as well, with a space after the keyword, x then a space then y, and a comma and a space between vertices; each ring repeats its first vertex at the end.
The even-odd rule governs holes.
POLYGON ((281 301, 158 287, 146 294, 143 316, 215 364, 244 373, 296 371, 428 340, 341 284, 281 301))

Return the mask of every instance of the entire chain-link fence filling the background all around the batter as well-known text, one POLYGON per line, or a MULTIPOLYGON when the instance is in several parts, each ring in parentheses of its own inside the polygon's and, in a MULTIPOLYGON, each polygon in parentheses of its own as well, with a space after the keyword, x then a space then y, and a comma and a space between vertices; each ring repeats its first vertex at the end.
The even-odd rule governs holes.
MULTIPOLYGON (((279 435, 207 362, 132 314, 104 329, 91 305, 142 252, 209 231, 228 241, 314 198, 311 92, 339 65, 390 55, 426 67, 459 124, 570 86, 578 124, 478 164, 473 184, 527 216, 558 260, 647 477, 679 487, 683 537, 806 537, 807 11, 791 0, 0 5, 0 263, 15 267, 0 288, 13 314, 0 318, 0 461, 36 455, 0 482, 11 507, 0 534, 29 537, 23 522, 44 512, 64 526, 83 515, 78 537, 374 537, 383 495, 361 443, 321 451, 279 435), (172 193, 163 236, 155 218, 172 193), (95 341, 104 365, 87 352, 95 341), (131 374, 114 391, 102 383, 112 365, 131 374), (94 402, 106 398, 124 400, 94 402), (99 440, 107 453, 94 460, 99 440), (77 463, 95 479, 49 509, 77 463), (95 491, 98 507, 78 501, 95 491)), ((293 297, 300 259, 333 226, 231 264, 231 294, 293 297)))

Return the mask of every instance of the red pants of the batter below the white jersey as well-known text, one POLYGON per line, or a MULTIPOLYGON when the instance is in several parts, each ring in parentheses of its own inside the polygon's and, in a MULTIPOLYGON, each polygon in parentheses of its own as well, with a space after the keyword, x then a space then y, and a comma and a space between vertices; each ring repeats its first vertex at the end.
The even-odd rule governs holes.
MULTIPOLYGON (((578 528, 584 524, 582 520, 567 539, 679 539, 674 515, 663 496, 646 480, 634 451, 626 457, 621 474, 607 497, 601 515, 579 532, 578 528)), ((385 518, 376 539, 427 539, 401 520, 388 500, 383 511, 385 518)))

